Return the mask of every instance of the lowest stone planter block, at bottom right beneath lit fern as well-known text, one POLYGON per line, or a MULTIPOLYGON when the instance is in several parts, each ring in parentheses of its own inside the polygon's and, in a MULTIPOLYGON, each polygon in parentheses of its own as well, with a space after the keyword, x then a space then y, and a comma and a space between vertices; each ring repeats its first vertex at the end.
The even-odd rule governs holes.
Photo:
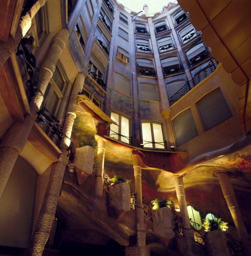
POLYGON ((210 256, 230 256, 226 235, 220 230, 208 232, 206 245, 210 256))

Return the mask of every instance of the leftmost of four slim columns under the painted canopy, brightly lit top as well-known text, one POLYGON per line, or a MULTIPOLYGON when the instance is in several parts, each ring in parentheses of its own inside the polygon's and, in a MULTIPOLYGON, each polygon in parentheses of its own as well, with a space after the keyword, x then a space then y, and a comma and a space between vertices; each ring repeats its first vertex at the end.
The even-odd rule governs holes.
POLYGON ((98 168, 95 176, 95 193, 97 196, 103 197, 103 183, 104 183, 103 175, 104 175, 106 140, 104 140, 101 137, 96 137, 96 140, 98 141, 98 152, 97 152, 98 168))

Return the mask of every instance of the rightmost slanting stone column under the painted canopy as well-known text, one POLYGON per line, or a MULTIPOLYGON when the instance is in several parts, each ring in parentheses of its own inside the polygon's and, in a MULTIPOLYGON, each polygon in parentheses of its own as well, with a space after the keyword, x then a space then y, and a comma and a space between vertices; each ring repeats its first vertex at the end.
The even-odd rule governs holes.
POLYGON ((227 206, 233 217, 233 221, 235 223, 235 227, 238 232, 239 238, 241 239, 243 253, 245 256, 251 255, 250 236, 248 235, 248 231, 245 226, 243 217, 241 215, 239 205, 237 203, 235 192, 233 191, 233 187, 230 182, 229 176, 227 176, 226 173, 217 173, 217 177, 220 181, 223 195, 227 201, 227 206))

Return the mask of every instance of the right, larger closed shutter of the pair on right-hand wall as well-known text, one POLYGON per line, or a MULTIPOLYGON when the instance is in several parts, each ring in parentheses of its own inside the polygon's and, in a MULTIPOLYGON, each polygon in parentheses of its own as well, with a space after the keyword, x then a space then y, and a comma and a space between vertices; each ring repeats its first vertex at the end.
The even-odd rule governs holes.
POLYGON ((233 116, 219 88, 209 92, 197 102, 205 131, 233 116))

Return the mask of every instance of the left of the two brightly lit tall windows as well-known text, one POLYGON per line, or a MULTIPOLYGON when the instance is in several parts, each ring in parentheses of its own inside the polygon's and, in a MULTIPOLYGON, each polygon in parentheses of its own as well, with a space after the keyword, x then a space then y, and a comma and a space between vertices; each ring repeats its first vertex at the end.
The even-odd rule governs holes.
POLYGON ((114 137, 121 142, 131 144, 130 118, 112 111, 111 119, 119 126, 112 124, 110 127, 110 137, 114 137))

